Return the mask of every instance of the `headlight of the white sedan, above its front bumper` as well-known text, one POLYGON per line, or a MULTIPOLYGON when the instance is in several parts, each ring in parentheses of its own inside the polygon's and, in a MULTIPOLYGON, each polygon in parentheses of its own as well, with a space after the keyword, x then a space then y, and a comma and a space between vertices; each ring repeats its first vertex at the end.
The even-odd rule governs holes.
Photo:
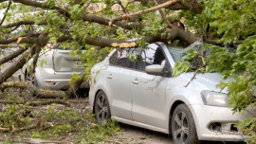
POLYGON ((201 96, 205 105, 220 107, 228 107, 229 105, 229 98, 227 97, 227 94, 212 91, 202 91, 201 96))

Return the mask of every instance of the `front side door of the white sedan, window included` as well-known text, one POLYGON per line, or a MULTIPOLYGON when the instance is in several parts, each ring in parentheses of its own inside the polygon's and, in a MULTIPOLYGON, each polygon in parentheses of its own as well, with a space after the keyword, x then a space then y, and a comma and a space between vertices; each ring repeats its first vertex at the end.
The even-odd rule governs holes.
POLYGON ((155 44, 148 45, 142 50, 140 58, 138 71, 133 80, 137 83, 132 84, 132 116, 137 122, 166 128, 165 121, 168 116, 165 116, 167 108, 165 88, 168 78, 149 75, 145 72, 145 67, 150 64, 162 64, 165 66, 164 69, 168 70, 171 67, 170 63, 166 60, 161 47, 155 44))

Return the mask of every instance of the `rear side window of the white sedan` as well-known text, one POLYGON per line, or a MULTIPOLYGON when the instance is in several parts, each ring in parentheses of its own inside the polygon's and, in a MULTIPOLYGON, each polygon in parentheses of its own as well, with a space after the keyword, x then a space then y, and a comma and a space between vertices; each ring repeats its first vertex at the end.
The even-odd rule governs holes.
POLYGON ((117 50, 109 59, 109 63, 112 65, 137 68, 137 54, 139 48, 124 48, 117 50))

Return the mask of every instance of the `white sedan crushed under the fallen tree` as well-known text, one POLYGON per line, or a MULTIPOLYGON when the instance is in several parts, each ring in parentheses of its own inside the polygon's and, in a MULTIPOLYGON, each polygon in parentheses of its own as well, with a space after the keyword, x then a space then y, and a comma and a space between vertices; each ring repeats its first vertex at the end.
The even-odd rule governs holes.
POLYGON ((111 117, 172 134, 175 144, 247 138, 234 124, 248 112, 232 114, 227 91, 216 88, 220 74, 197 74, 193 81, 193 73, 172 77, 174 63, 184 55, 186 49, 155 43, 146 49, 114 50, 94 65, 89 100, 98 122, 111 117))

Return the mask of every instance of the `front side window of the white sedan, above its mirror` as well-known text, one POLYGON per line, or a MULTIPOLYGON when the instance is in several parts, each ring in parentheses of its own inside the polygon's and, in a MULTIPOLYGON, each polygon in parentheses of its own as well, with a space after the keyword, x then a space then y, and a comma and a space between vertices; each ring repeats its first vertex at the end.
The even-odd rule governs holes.
POLYGON ((145 71, 145 67, 151 64, 165 65, 165 55, 158 45, 148 45, 141 50, 140 59, 138 61, 138 70, 145 71))

